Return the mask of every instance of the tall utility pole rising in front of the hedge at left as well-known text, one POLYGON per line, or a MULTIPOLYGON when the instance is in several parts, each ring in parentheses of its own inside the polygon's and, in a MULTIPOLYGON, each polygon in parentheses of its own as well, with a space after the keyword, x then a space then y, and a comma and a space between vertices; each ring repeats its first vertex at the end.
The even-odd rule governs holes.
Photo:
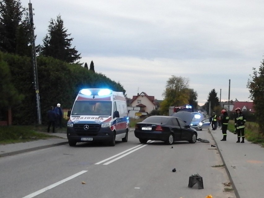
POLYGON ((33 11, 32 11, 32 3, 30 3, 30 0, 29 0, 29 25, 30 25, 30 43, 31 43, 31 53, 32 53, 31 60, 32 60, 33 75, 34 75, 34 88, 35 88, 36 100, 37 100, 37 120, 38 120, 38 124, 42 124, 38 77, 37 77, 37 57, 36 57, 35 35, 34 35, 33 11))

